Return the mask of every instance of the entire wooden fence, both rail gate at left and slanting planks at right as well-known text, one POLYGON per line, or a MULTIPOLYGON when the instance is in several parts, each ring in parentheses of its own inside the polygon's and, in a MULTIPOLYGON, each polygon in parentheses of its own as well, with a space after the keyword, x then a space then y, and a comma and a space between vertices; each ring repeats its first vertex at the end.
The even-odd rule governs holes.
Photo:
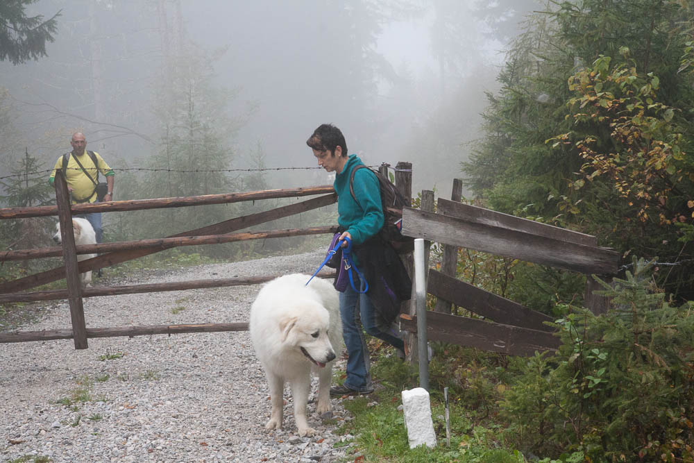
MULTIPOLYGON (((387 165, 383 165, 380 171, 382 174, 387 175, 387 165)), ((408 199, 412 199, 412 164, 409 162, 398 162, 395 179, 398 189, 408 199)), ((430 339, 513 355, 532 355, 534 351, 557 348, 559 343, 558 339, 552 335, 551 329, 543 323, 551 321, 551 317, 454 278, 457 249, 459 247, 586 273, 589 275, 586 283, 586 303, 596 313, 602 313, 606 310, 607 302, 605 299, 593 294, 595 280, 591 278, 591 274, 598 273, 605 278, 609 278, 609 276, 616 273, 618 267, 617 253, 598 247, 597 239, 590 235, 462 204, 459 202, 461 192, 462 183, 460 180, 455 180, 452 199, 449 201, 439 198, 437 213, 431 212, 434 208, 434 194, 426 190, 422 192, 421 210, 405 208, 405 211, 403 211, 403 233, 405 235, 421 237, 429 242, 439 242, 445 245, 441 265, 442 271, 430 269, 428 274, 427 290, 438 298, 434 312, 428 312, 427 332, 430 339), (479 314, 484 317, 484 320, 451 315, 451 304, 479 314)), ((56 200, 56 206, 0 209, 0 219, 42 217, 57 214, 62 230, 61 247, 3 251, 0 252, 0 262, 58 255, 64 256, 65 260, 64 267, 57 267, 56 269, 36 273, 17 280, 0 283, 0 303, 48 301, 67 298, 70 306, 72 329, 0 333, 0 343, 73 338, 75 348, 83 349, 88 347, 87 338, 90 337, 247 330, 248 323, 245 322, 87 328, 85 326, 82 298, 256 285, 271 280, 276 276, 82 288, 79 283, 79 273, 108 267, 177 246, 335 233, 335 227, 330 226, 262 232, 239 232, 239 230, 330 205, 337 201, 337 195, 332 186, 327 185, 261 192, 211 194, 186 198, 144 199, 70 205, 65 179, 58 172, 56 175, 56 200), (319 194, 323 196, 244 217, 235 217, 219 224, 188 230, 160 239, 141 239, 129 242, 75 246, 72 235, 71 215, 73 214, 179 208, 189 205, 235 203, 239 201, 314 196, 319 194), (101 254, 96 258, 81 262, 77 261, 76 256, 78 254, 87 253, 101 254), (62 278, 67 278, 67 289, 24 292, 26 289, 61 280, 62 278)), ((404 260, 411 274, 414 273, 412 271, 411 256, 406 256, 404 260)), ((321 276, 330 277, 332 274, 323 273, 321 276)), ((417 358, 414 297, 412 301, 407 301, 403 306, 400 326, 403 330, 411 333, 407 344, 409 353, 412 353, 411 358, 414 360, 417 358)))

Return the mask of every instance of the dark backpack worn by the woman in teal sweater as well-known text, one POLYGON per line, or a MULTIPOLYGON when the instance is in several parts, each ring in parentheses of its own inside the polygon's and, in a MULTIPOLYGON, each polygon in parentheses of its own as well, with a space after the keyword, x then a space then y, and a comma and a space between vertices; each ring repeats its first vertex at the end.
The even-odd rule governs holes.
MULTIPOLYGON (((355 203, 357 196, 354 194, 354 174, 357 170, 369 169, 365 165, 358 165, 352 169, 352 174, 349 178, 349 192, 355 203)), ((393 246, 398 253, 409 253, 414 249, 414 238, 405 236, 403 230, 403 208, 409 207, 407 199, 402 193, 391 183, 390 180, 379 174, 373 169, 369 169, 373 175, 378 178, 378 186, 381 192, 381 207, 383 208, 383 227, 378 232, 382 241, 393 246)))

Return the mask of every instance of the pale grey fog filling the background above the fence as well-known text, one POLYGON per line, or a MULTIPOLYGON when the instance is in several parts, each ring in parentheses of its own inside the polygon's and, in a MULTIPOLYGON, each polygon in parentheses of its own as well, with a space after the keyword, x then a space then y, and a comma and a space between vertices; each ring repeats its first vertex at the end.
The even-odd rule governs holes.
MULTIPOLYGON (((50 169, 74 131, 117 176, 153 167, 187 112, 230 175, 316 167, 305 140, 330 122, 366 164, 412 162, 415 192, 450 194, 521 5, 534 2, 39 0, 28 14, 61 10, 58 33, 48 57, 0 62, 0 176, 25 150, 50 169)), ((330 182, 319 169, 267 180, 330 182)))

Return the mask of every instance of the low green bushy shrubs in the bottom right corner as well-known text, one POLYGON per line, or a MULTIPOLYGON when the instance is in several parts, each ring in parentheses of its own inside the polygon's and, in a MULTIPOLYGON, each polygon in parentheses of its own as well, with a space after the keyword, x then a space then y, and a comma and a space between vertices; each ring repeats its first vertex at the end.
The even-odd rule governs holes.
POLYGON ((525 360, 502 404, 519 448, 593 461, 694 459, 694 303, 670 305, 650 267, 634 259, 624 280, 603 282, 615 309, 573 309, 557 321, 557 354, 525 360))

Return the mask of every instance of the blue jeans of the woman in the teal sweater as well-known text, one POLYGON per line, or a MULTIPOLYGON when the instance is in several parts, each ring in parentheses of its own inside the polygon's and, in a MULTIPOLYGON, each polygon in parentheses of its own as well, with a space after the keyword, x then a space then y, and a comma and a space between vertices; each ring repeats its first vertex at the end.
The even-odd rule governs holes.
MULTIPOLYGON (((359 287, 359 280, 355 278, 355 287, 359 287)), ((350 285, 345 292, 339 294, 340 317, 342 319, 342 337, 347 348, 347 378, 344 385, 355 391, 371 391, 371 373, 369 373, 369 348, 364 340, 364 331, 369 335, 378 337, 391 344, 400 351, 405 350, 405 342, 397 336, 383 332, 378 328, 375 308, 369 300, 369 296, 359 294, 350 285), (358 310, 357 310, 357 302, 358 310), (362 320, 361 326, 358 319, 362 320)))

